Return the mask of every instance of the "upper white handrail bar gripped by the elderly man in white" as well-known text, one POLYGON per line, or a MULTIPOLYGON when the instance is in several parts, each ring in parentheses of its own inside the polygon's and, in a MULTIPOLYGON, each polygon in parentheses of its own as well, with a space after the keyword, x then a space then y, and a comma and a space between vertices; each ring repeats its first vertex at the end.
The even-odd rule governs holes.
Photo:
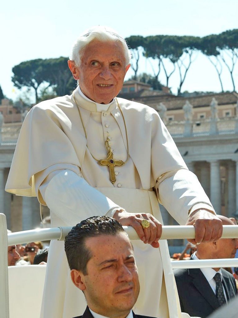
MULTIPOLYGON (((70 226, 36 229, 8 234, 8 245, 23 244, 50 239, 64 240, 71 230, 70 226)), ((131 226, 123 226, 130 239, 139 239, 131 226)), ((163 225, 161 239, 193 239, 195 229, 193 225, 163 225)), ((238 225, 223 225, 222 238, 238 238, 238 225)))

